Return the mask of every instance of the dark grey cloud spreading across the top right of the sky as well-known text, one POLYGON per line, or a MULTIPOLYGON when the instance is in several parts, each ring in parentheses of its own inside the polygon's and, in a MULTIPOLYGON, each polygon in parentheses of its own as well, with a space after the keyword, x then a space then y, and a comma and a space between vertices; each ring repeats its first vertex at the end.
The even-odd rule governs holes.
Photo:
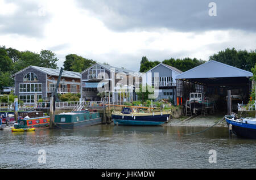
POLYGON ((177 31, 214 29, 256 30, 254 0, 88 0, 77 1, 114 31, 168 28, 177 31), (217 16, 209 16, 210 2, 217 16))

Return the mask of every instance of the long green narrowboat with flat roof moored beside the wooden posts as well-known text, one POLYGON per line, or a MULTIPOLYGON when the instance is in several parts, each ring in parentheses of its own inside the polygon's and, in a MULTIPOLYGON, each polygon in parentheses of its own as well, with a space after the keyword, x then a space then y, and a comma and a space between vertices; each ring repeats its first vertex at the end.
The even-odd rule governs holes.
POLYGON ((80 126, 92 126, 101 123, 100 113, 96 110, 81 112, 61 113, 55 115, 54 124, 56 128, 72 129, 80 126))

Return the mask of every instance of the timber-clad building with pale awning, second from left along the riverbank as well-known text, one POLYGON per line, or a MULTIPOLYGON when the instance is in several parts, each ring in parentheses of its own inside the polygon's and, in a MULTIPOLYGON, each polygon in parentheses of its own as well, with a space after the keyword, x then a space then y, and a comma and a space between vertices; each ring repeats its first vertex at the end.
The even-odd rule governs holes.
POLYGON ((85 101, 101 101, 101 97, 97 96, 100 87, 104 91, 112 91, 110 102, 119 102, 120 96, 124 97, 120 92, 130 94, 126 95, 126 100, 135 100, 135 88, 139 88, 141 80, 138 72, 95 63, 81 72, 81 98, 85 101))

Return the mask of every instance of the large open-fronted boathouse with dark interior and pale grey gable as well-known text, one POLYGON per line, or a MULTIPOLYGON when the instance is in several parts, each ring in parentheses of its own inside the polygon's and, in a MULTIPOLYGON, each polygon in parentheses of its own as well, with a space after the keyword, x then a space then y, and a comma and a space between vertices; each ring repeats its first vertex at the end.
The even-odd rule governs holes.
POLYGON ((237 103, 249 101, 253 73, 217 61, 208 61, 176 76, 177 100, 184 104, 191 92, 201 92, 212 97, 217 110, 226 112, 228 90, 237 103))

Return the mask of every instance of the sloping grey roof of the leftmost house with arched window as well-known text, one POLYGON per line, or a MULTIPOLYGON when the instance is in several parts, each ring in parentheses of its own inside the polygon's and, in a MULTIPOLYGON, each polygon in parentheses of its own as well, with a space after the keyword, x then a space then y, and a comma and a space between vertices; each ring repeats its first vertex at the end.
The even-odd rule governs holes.
MULTIPOLYGON (((39 67, 39 66, 31 66, 34 67, 36 69, 38 69, 39 71, 43 71, 48 75, 52 75, 52 76, 59 76, 60 74, 60 70, 59 69, 54 69, 54 68, 47 68, 47 67, 39 67)), ((66 71, 64 70, 62 72, 63 77, 68 77, 68 78, 79 78, 80 79, 80 72, 73 72, 73 71, 66 71)))

